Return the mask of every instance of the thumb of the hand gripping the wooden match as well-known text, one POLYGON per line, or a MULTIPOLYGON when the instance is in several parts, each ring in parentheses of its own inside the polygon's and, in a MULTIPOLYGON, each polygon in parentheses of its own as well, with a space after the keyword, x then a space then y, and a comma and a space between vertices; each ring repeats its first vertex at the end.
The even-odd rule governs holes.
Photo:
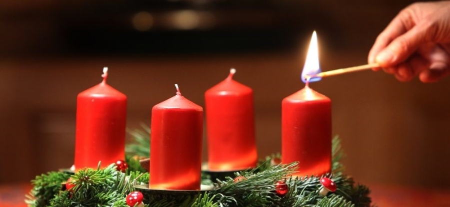
POLYGON ((404 34, 393 39, 375 57, 382 67, 397 65, 406 60, 417 48, 429 41, 427 38, 427 27, 425 25, 415 25, 404 34))

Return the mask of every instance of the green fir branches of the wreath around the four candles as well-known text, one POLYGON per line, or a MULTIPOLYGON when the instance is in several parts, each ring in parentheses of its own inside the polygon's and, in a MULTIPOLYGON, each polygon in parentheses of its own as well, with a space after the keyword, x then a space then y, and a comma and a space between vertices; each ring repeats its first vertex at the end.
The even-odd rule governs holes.
MULTIPOLYGON (((134 131, 138 144, 128 152, 136 150, 134 156, 145 156, 149 151, 149 131, 134 131), (144 143, 145 141, 145 143, 144 143), (138 145, 145 145, 141 147, 138 145), (148 151, 146 151, 148 150, 148 151)), ((340 140, 333 138, 332 174, 324 175, 334 181, 337 190, 320 196, 322 188, 318 177, 292 178, 296 164, 274 165, 270 161, 279 159, 275 154, 259 163, 255 169, 237 172, 234 177, 244 179, 234 181, 231 177, 211 181, 202 173, 202 184, 213 186, 209 192, 197 194, 144 194, 145 207, 370 207, 369 190, 363 185, 355 185, 352 178, 342 174, 340 159, 343 153, 340 140), (275 193, 275 183, 284 181, 288 192, 283 197, 275 193)), ((82 169, 70 176, 64 172, 49 172, 36 176, 31 181, 33 189, 27 196, 30 207, 127 207, 125 198, 134 191, 134 185, 148 183, 149 174, 141 169, 138 158, 127 155, 128 170, 121 173, 115 165, 104 169, 82 169), (71 177, 74 187, 69 191, 61 189, 71 177)))

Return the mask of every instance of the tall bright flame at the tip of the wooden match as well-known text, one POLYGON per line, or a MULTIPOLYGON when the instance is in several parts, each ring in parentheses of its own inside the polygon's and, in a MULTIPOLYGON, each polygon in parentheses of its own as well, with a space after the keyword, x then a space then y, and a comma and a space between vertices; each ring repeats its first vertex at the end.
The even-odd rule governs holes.
MULTIPOLYGON (((317 34, 312 32, 311 41, 309 43, 308 53, 306 54, 306 60, 304 62, 303 71, 301 72, 301 80, 306 83, 306 75, 315 75, 320 73, 320 66, 318 61, 318 47, 317 47, 317 34)), ((319 81, 320 77, 311 77, 308 82, 319 81)))

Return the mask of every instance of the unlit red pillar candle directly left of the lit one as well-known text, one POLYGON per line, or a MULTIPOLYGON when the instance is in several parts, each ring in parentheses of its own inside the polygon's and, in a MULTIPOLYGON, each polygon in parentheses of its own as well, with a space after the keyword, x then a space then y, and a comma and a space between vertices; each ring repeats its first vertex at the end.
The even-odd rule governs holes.
POLYGON ((208 168, 242 170, 256 166, 253 91, 228 77, 205 92, 208 168))

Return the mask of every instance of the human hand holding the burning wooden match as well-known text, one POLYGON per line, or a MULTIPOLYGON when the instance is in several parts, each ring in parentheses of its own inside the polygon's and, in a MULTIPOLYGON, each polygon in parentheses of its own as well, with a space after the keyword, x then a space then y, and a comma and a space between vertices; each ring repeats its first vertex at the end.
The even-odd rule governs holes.
POLYGON ((368 62, 400 81, 418 75, 422 82, 435 82, 450 74, 450 1, 413 3, 401 10, 376 38, 368 62))

